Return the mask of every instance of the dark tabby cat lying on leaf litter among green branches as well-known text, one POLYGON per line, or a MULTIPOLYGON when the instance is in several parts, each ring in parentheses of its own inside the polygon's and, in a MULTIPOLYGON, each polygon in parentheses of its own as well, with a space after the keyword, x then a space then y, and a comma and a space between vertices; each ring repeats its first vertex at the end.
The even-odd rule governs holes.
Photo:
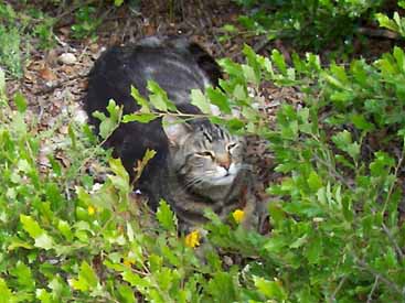
MULTIPOLYGON (((190 104, 190 91, 217 85, 220 76, 215 61, 198 44, 184 39, 148 37, 135 45, 111 47, 96 61, 85 109, 97 130, 99 122, 92 117, 93 111, 106 113, 109 99, 122 105, 125 113, 138 110, 130 85, 148 96, 147 80, 153 79, 179 110, 201 113, 190 104)), ((204 223, 205 208, 221 217, 246 205, 255 209, 244 139, 206 119, 164 128, 158 119, 147 125, 122 123, 107 144, 121 158, 131 177, 146 150, 157 151, 136 186, 154 209, 164 198, 183 229, 204 223)))

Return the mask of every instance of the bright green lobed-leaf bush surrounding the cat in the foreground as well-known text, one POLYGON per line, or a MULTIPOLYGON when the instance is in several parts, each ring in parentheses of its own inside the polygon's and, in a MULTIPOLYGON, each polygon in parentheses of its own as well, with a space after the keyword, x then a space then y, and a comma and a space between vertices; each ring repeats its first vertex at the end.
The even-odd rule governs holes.
MULTIPOLYGON (((87 126, 71 121, 63 144, 46 149, 54 134, 40 130, 21 95, 6 96, 0 69, 0 302, 405 299, 404 51, 328 67, 313 54, 294 55, 291 66, 276 50, 264 57, 245 46, 244 55, 244 64, 221 61, 222 89, 192 99, 207 116, 210 102, 224 113, 238 108, 242 118, 211 119, 268 140, 283 176, 267 188, 271 231, 207 213, 199 248, 196 234, 178 236, 163 201, 151 214, 134 196, 120 161, 87 126), (269 125, 252 97, 267 82, 299 88, 303 106, 283 104, 269 125), (108 166, 103 184, 85 170, 96 158, 108 166)), ((149 89, 149 102, 132 90, 139 112, 121 117, 111 101, 109 117, 98 115, 103 139, 121 121, 172 108, 158 86, 149 89)))

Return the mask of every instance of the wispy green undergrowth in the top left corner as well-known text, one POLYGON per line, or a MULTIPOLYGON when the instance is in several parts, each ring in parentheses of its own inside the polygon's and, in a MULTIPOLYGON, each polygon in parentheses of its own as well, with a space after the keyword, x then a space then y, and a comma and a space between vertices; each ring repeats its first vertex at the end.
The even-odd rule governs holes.
MULTIPOLYGON (((74 23, 70 26, 72 39, 96 37, 95 32, 103 22, 102 7, 119 7, 122 1, 100 1, 96 7, 74 1, 73 10, 65 1, 0 3, 0 66, 10 78, 21 78, 30 51, 49 50, 56 45, 54 26, 72 10, 74 23), (12 4, 11 4, 12 3, 12 4)), ((97 1, 95 1, 97 2, 97 1)))

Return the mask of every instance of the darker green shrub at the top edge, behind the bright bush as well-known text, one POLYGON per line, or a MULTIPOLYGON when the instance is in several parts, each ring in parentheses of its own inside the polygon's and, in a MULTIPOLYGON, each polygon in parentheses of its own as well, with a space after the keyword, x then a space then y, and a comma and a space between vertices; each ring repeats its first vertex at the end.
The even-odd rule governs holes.
POLYGON ((287 39, 306 51, 340 50, 351 52, 356 29, 383 4, 363 1, 257 1, 235 0, 244 7, 239 22, 246 30, 269 40, 287 39))

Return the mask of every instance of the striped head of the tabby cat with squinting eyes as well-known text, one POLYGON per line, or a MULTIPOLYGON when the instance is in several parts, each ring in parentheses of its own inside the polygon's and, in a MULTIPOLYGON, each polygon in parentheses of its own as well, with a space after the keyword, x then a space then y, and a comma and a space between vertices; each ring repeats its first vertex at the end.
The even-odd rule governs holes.
POLYGON ((206 120, 164 127, 172 167, 185 186, 231 185, 244 167, 245 141, 206 120))

